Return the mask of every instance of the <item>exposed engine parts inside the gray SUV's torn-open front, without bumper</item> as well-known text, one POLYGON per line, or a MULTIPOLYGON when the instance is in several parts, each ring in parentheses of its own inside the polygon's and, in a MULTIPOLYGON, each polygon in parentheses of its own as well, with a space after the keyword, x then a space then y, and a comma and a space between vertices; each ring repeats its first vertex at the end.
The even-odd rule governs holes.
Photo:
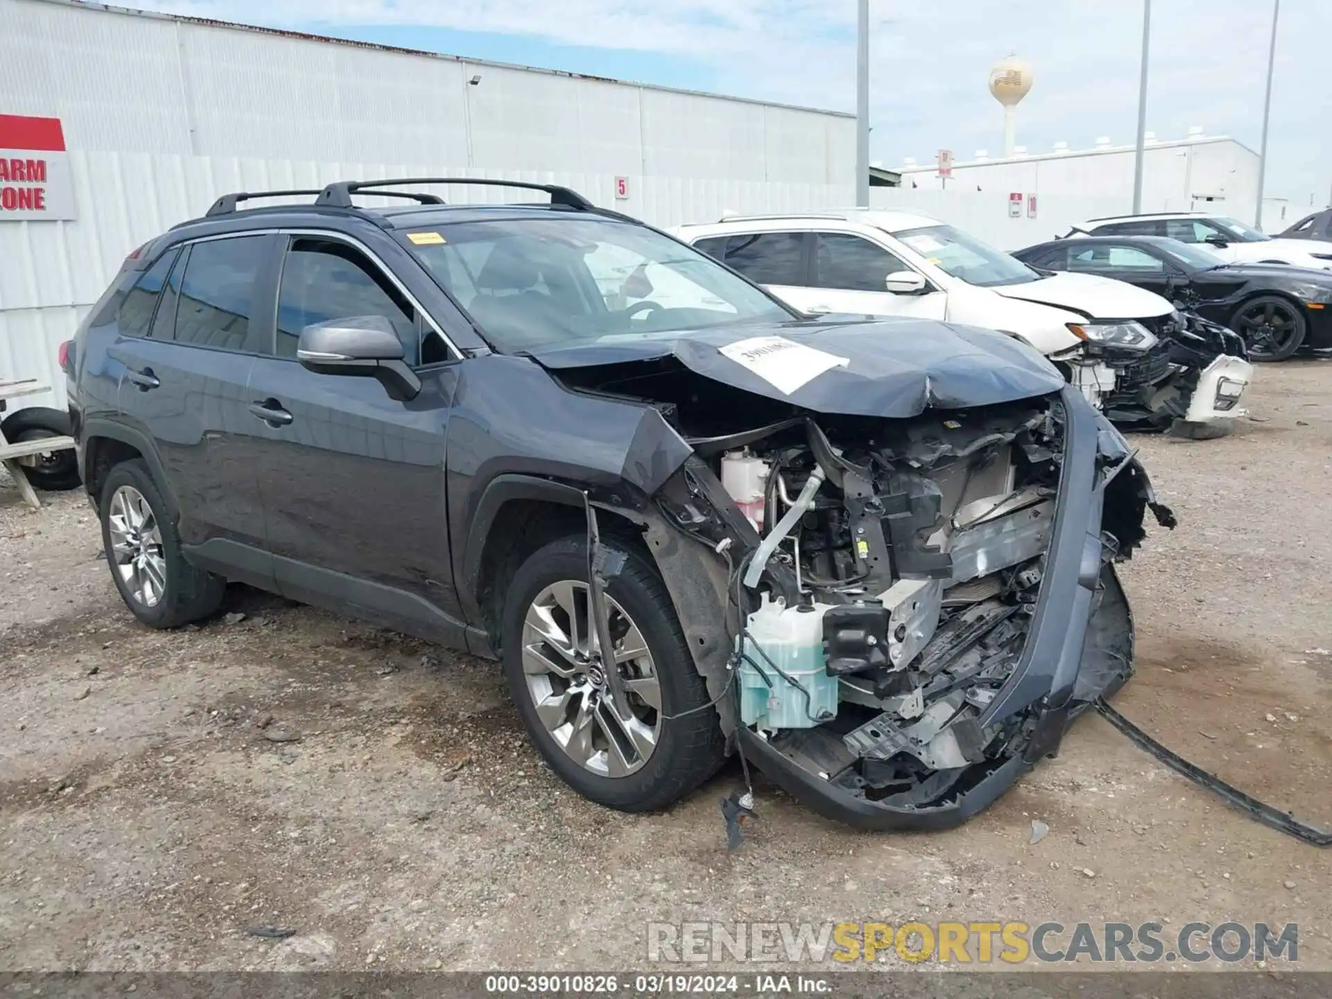
POLYGON ((1012 405, 872 440, 791 430, 718 462, 763 537, 737 566, 742 599, 758 594, 741 723, 847 790, 924 805, 1004 739, 980 719, 1031 626, 1060 428, 1012 405))

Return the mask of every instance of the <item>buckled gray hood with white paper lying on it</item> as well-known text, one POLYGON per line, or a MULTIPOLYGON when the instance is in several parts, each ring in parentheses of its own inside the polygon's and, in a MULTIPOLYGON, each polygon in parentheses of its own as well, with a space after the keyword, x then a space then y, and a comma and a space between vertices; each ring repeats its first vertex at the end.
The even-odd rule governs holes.
POLYGON ((530 356, 551 372, 674 358, 722 385, 814 413, 866 417, 988 406, 1064 385, 1050 361, 1011 337, 916 318, 615 336, 530 356))

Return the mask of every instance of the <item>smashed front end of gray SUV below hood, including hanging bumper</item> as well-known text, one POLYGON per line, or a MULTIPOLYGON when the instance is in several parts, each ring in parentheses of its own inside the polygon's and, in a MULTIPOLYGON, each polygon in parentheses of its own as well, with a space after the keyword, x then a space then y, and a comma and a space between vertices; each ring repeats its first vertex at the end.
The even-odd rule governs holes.
MULTIPOLYGON (((851 333, 819 348, 854 354, 851 333)), ((895 402, 838 390, 859 388, 854 361, 794 392, 743 380, 737 394, 713 381, 742 381, 719 352, 669 350, 561 376, 659 416, 625 464, 654 482, 634 515, 723 733, 789 793, 854 825, 956 825, 1130 677, 1114 563, 1148 509, 1173 518, 1044 361, 1031 356, 1035 392, 970 358, 936 378, 903 368, 914 412, 875 416, 895 402), (974 405, 952 401, 963 374, 974 405), (690 450, 658 473, 666 428, 690 450)))

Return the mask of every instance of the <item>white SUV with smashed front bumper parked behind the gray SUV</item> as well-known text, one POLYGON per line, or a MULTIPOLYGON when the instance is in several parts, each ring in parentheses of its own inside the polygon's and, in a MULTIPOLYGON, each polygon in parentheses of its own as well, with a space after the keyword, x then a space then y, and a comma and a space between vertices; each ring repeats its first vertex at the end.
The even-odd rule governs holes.
POLYGON ((727 216, 675 234, 806 313, 919 316, 1015 336, 1111 418, 1219 429, 1245 412, 1252 366, 1221 352, 1184 370, 1171 342, 1181 318, 1160 296, 1034 270, 926 214, 727 216))

